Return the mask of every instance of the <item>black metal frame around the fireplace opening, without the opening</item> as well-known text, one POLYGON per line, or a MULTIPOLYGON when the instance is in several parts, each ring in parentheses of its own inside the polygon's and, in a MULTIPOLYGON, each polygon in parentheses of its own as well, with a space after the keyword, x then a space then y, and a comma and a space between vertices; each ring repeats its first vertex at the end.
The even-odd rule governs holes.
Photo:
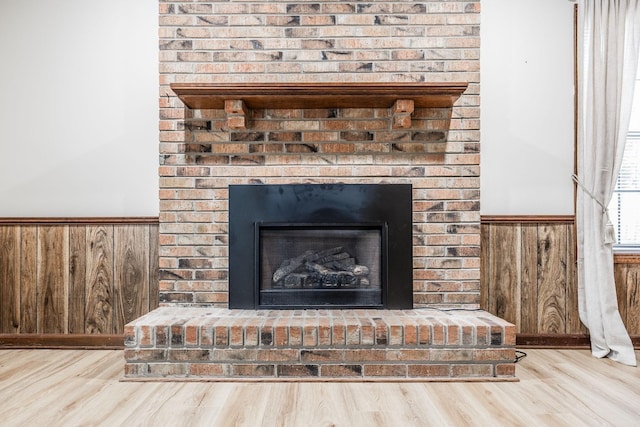
POLYGON ((319 308, 260 304, 259 268, 254 262, 256 233, 260 224, 270 223, 348 227, 385 224, 382 305, 376 308, 413 308, 411 184, 229 185, 229 308, 319 308))

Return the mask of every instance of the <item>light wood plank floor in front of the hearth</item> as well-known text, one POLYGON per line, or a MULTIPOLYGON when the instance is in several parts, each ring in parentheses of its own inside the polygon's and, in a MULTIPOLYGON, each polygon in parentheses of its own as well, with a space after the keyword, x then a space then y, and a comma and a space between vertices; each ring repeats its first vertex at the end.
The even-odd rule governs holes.
POLYGON ((516 383, 134 383, 122 351, 0 350, 0 426, 640 426, 640 368, 525 351, 516 383))

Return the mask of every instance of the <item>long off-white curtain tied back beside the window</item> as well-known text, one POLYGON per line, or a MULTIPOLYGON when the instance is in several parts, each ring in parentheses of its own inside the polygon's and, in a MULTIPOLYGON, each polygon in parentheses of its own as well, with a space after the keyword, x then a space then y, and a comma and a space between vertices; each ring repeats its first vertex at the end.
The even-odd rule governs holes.
POLYGON ((606 206, 622 163, 640 49, 640 0, 578 4, 578 299, 596 357, 636 366, 618 311, 606 206))

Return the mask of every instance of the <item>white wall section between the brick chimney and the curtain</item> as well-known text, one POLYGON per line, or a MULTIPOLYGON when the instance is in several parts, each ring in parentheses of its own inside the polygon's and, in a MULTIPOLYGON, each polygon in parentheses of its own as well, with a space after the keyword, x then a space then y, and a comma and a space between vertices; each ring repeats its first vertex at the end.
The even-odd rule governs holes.
POLYGON ((481 213, 573 214, 574 4, 481 6, 481 213))

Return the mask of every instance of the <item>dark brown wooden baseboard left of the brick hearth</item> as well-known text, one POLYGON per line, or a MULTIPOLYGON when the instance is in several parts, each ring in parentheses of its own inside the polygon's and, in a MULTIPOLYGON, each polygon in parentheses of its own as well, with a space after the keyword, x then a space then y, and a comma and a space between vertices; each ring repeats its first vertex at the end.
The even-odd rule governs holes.
POLYGON ((0 334, 0 349, 122 350, 120 334, 0 334))

